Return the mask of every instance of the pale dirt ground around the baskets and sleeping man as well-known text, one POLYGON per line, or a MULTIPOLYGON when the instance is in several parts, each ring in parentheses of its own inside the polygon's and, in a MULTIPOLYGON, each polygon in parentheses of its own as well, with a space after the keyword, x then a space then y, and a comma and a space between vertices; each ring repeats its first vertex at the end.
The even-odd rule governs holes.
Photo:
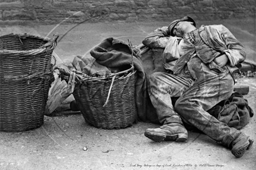
MULTIPOLYGON (((224 24, 255 62, 255 19, 197 21, 224 24), (252 24, 253 23, 253 24, 252 24)), ((27 33, 49 37, 59 33, 55 53, 63 61, 88 55, 103 39, 116 37, 133 45, 141 44, 152 30, 166 21, 147 23, 83 23, 79 25, 1 27, 0 35, 27 33)), ((244 98, 256 113, 256 78, 237 79, 236 85, 250 86, 244 98)), ((256 140, 256 116, 241 131, 256 140)), ((255 143, 241 158, 201 133, 189 132, 186 142, 152 142, 147 128, 158 125, 138 122, 125 129, 106 130, 89 126, 80 113, 45 116, 40 128, 17 133, 0 132, 0 169, 255 169, 255 143), (83 148, 87 150, 84 151, 83 148)))

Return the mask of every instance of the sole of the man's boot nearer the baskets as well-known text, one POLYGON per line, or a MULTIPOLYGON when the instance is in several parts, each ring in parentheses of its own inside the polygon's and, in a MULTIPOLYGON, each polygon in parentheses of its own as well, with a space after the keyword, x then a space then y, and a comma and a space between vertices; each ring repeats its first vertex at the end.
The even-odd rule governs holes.
POLYGON ((154 140, 155 142, 163 142, 163 141, 170 141, 170 140, 174 140, 176 142, 184 142, 185 140, 187 140, 187 135, 184 133, 177 133, 175 135, 159 136, 159 135, 145 132, 144 135, 147 138, 154 140))

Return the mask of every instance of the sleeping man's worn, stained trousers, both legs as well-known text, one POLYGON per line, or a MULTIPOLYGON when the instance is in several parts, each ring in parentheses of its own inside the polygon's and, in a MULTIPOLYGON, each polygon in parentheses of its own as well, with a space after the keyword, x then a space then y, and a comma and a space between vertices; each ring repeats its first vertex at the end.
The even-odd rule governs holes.
POLYGON ((207 110, 229 98, 233 88, 228 71, 217 74, 208 70, 197 81, 159 72, 148 78, 148 93, 161 124, 184 121, 227 147, 241 132, 220 122, 207 110), (175 106, 171 97, 179 97, 175 106))

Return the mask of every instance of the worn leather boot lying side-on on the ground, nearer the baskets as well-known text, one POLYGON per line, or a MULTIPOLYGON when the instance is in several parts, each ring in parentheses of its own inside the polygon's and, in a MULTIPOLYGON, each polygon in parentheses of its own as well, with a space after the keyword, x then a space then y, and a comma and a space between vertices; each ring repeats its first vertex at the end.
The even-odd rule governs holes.
POLYGON ((176 142, 184 142, 187 140, 187 129, 179 123, 169 123, 156 129, 147 129, 144 133, 147 138, 155 142, 163 142, 175 140, 176 142))

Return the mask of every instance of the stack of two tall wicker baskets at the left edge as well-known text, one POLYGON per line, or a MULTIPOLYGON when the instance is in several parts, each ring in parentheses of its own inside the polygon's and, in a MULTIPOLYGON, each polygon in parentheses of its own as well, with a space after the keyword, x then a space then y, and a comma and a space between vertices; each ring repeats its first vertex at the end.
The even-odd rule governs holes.
POLYGON ((52 39, 28 34, 0 37, 0 131, 40 127, 52 78, 52 39))

